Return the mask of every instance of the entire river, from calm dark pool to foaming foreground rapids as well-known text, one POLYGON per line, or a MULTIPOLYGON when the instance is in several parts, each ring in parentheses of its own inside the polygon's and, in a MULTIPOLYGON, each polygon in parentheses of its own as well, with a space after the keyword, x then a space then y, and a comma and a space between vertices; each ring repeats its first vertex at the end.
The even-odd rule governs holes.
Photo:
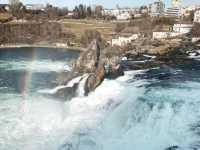
POLYGON ((198 60, 128 71, 67 102, 42 96, 38 91, 53 88, 56 74, 70 69, 77 56, 50 49, 0 51, 0 149, 200 149, 198 60))

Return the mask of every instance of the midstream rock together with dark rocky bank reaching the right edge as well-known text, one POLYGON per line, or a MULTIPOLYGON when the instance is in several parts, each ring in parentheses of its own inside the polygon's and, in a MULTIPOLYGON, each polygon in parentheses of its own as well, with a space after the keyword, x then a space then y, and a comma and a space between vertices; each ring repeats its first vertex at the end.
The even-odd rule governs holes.
MULTIPOLYGON (((124 71, 150 69, 154 67, 173 66, 192 63, 191 55, 200 55, 200 47, 183 40, 156 41, 140 39, 134 41, 131 48, 107 47, 101 49, 98 39, 92 41, 87 51, 81 53, 73 63, 70 73, 60 80, 61 85, 67 85, 76 77, 81 77, 73 86, 60 89, 56 96, 71 99, 77 94, 81 83, 84 94, 94 91, 105 78, 114 79, 124 75, 124 71), (83 77, 87 74, 87 77, 83 77), (67 98, 64 95, 68 95, 67 98)), ((76 95, 77 96, 77 95, 76 95)))

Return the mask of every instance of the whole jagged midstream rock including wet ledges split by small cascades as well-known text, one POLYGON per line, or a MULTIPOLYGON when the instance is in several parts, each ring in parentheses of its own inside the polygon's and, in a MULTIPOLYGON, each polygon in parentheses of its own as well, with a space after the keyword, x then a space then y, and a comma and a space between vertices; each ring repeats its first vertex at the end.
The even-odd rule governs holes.
MULTIPOLYGON (((73 64, 72 72, 69 73, 62 79, 61 84, 68 84, 72 78, 77 76, 84 76, 88 74, 86 80, 83 77, 78 84, 70 88, 64 88, 60 90, 57 95, 61 97, 66 96, 66 93, 77 93, 76 91, 80 86, 82 86, 82 81, 84 81, 83 89, 84 95, 88 95, 90 92, 94 91, 105 78, 116 78, 124 74, 123 69, 120 64, 122 51, 118 48, 106 48, 101 49, 98 40, 93 40, 88 50, 83 52, 79 59, 73 64)), ((75 94, 70 94, 75 95, 75 94)))

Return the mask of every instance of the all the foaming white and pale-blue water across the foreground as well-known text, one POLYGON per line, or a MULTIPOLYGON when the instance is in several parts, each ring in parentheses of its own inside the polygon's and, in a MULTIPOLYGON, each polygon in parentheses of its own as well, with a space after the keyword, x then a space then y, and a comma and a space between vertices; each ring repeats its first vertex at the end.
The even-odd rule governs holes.
POLYGON ((57 102, 33 95, 0 98, 3 150, 187 150, 199 136, 200 83, 151 88, 135 80, 143 71, 105 80, 88 97, 57 102))

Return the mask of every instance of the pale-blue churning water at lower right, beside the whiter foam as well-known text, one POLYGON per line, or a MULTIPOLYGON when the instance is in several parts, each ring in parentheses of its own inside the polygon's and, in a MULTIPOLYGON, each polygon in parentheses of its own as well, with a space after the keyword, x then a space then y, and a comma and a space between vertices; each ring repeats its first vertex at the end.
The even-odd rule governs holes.
POLYGON ((189 150, 199 142, 195 134, 199 132, 199 89, 200 84, 193 82, 177 89, 152 89, 143 101, 137 99, 137 90, 127 87, 123 103, 109 111, 97 131, 80 138, 79 149, 165 150, 178 145, 189 150), (197 125, 195 132, 192 125, 197 125))

